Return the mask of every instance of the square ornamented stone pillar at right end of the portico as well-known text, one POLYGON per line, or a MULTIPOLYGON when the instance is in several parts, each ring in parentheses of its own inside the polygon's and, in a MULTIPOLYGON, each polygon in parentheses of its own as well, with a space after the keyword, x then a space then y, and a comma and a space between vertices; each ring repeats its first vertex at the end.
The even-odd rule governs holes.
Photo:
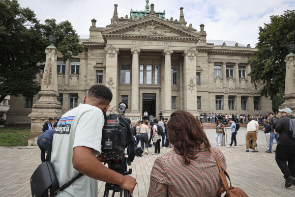
POLYGON ((194 116, 198 116, 197 111, 197 88, 196 88, 196 54, 195 49, 185 50, 184 56, 184 110, 194 116))

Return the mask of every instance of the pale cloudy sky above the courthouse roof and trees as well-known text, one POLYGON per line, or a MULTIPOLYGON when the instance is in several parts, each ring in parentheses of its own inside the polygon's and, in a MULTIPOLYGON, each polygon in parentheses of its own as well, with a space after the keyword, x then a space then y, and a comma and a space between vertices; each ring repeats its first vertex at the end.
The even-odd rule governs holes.
MULTIPOLYGON (((110 24, 114 4, 119 17, 130 17, 130 9, 144 10, 144 0, 18 0, 21 7, 29 7, 43 23, 47 18, 57 22, 69 20, 79 35, 88 35, 91 20, 97 27, 110 24)), ((184 7, 185 20, 200 31, 204 24, 207 39, 230 40, 254 47, 258 27, 270 22, 271 15, 282 15, 295 9, 294 0, 150 0, 155 11, 165 10, 166 18, 179 20, 180 7, 184 7)))

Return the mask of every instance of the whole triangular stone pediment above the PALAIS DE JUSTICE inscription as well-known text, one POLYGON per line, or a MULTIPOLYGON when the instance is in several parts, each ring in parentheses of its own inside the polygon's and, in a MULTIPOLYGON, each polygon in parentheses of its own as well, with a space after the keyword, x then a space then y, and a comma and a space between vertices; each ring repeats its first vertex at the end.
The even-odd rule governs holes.
POLYGON ((102 32, 104 39, 113 38, 157 38, 175 41, 197 42, 201 37, 196 33, 186 30, 156 17, 148 17, 127 23, 102 32))

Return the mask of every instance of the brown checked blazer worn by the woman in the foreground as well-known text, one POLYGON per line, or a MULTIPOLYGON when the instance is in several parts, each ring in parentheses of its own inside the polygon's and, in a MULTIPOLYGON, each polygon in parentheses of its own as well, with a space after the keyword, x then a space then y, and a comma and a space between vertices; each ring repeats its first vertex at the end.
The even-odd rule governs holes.
MULTIPOLYGON (((212 149, 221 167, 226 170, 223 153, 217 148, 212 149)), ((211 152, 210 155, 205 150, 195 151, 198 157, 189 165, 174 150, 158 157, 152 169, 147 196, 217 196, 222 182, 214 154, 211 152)))

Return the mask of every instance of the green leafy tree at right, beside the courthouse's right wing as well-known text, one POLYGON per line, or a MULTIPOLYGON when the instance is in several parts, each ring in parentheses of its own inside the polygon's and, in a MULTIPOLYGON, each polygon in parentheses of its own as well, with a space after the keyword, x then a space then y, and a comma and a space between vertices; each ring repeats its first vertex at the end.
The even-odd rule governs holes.
POLYGON ((294 35, 295 10, 287 10, 281 16, 272 15, 269 24, 259 27, 258 50, 248 63, 251 64, 249 76, 255 88, 257 83, 263 83, 261 96, 270 96, 273 100, 278 93, 284 93, 286 46, 295 42, 294 35))

